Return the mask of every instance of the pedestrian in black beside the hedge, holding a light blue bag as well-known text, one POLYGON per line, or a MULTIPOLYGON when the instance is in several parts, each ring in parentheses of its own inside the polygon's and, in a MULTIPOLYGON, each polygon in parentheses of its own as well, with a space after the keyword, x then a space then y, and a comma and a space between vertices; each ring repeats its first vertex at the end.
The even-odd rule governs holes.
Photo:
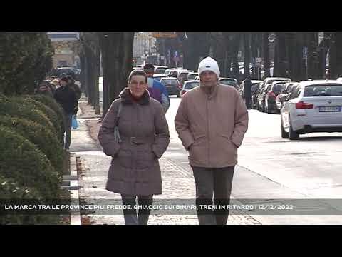
POLYGON ((60 81, 61 87, 56 90, 55 99, 64 110, 66 136, 64 148, 67 150, 71 145, 71 121, 73 115, 78 112, 78 100, 75 91, 69 86, 68 78, 63 77, 60 81))

